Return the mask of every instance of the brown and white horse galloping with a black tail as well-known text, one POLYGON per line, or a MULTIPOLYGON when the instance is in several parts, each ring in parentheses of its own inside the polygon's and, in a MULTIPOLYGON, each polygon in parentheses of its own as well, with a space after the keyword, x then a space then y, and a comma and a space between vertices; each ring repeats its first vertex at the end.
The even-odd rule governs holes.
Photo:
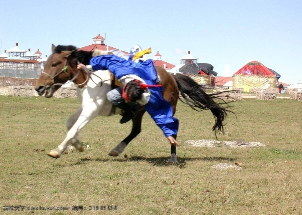
MULTIPOLYGON (((48 155, 59 158, 69 144, 73 145, 78 151, 83 152, 84 146, 77 139, 79 132, 89 123, 90 120, 101 116, 112 116, 122 114, 122 111, 112 105, 106 97, 106 94, 112 89, 114 79, 109 70, 99 70, 90 72, 85 69, 77 69, 79 63, 88 65, 89 60, 97 55, 107 54, 101 50, 77 51, 73 45, 52 44, 52 54, 44 63, 44 70, 40 78, 35 83, 35 90, 38 95, 50 98, 66 82, 73 82, 77 86, 77 97, 81 103, 79 109, 66 122, 67 135, 57 148, 52 149, 48 155)), ((162 96, 172 105, 173 115, 176 111, 178 99, 196 111, 210 110, 215 118, 215 124, 212 130, 224 133, 223 122, 230 111, 229 102, 223 98, 222 92, 207 94, 205 87, 196 83, 189 76, 176 74, 171 76, 164 68, 155 67, 160 84, 162 85, 162 96), (217 100, 217 101, 215 101, 217 100), (223 104, 227 104, 224 108, 223 104)), ((116 83, 118 85, 118 83, 116 83)), ((121 86, 121 84, 119 85, 121 86)), ((111 149, 108 155, 118 156, 124 151, 126 146, 141 132, 141 123, 143 114, 146 111, 143 106, 139 113, 132 119, 132 129, 130 134, 111 149)), ((217 137, 217 136, 216 136, 217 137)), ((175 136, 176 139, 176 136, 175 136)), ((171 145, 171 157, 167 163, 176 163, 176 146, 171 145)))

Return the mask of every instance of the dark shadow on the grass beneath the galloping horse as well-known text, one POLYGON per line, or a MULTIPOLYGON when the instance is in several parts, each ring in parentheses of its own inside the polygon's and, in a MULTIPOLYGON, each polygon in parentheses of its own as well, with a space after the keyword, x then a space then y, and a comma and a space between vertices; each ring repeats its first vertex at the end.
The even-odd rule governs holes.
MULTIPOLYGON (((86 162, 91 162, 91 161, 95 161, 95 162, 148 162, 149 164, 152 164, 153 166, 161 166, 161 167, 169 167, 171 166, 171 164, 167 164, 167 160, 169 158, 168 157, 143 157, 143 156, 131 156, 131 157, 127 157, 124 156, 124 158, 118 157, 117 159, 112 160, 112 158, 108 158, 108 159, 92 159, 90 157, 87 158, 81 158, 80 161, 77 161, 76 163, 70 164, 70 166, 74 166, 74 165, 81 165, 81 164, 85 164, 86 162)), ((235 160, 234 158, 230 158, 230 157, 178 157, 177 158, 177 163, 176 164, 172 164, 173 166, 179 167, 179 168, 183 168, 185 167, 185 165, 187 164, 188 161, 200 161, 200 160, 204 160, 204 161, 224 161, 224 162, 230 162, 235 160)))

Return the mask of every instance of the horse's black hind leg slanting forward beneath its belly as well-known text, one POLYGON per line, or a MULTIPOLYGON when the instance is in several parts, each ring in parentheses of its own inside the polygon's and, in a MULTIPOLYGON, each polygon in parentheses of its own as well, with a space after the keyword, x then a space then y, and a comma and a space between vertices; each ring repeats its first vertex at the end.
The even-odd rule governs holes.
POLYGON ((119 144, 117 144, 111 151, 109 152, 108 155, 110 156, 118 156, 120 153, 124 151, 128 143, 133 140, 141 131, 141 126, 142 126, 142 118, 143 115, 146 111, 141 110, 135 118, 132 119, 132 130, 131 133, 119 144))

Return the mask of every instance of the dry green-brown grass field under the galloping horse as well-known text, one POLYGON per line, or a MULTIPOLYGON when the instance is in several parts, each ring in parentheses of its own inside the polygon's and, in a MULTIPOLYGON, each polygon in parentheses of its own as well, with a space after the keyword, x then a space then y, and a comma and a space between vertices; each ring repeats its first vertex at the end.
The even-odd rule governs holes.
POLYGON ((131 123, 119 124, 120 116, 113 116, 97 117, 81 131, 79 139, 90 145, 84 152, 53 159, 47 152, 65 138, 65 122, 79 102, 0 96, 0 214, 302 214, 301 101, 231 104, 237 118, 229 115, 218 139, 266 147, 187 145, 186 140, 215 139, 214 118, 178 103, 181 145, 171 166, 165 164, 169 142, 148 114, 140 135, 119 157, 107 154, 131 123), (235 162, 243 169, 211 167, 235 162))

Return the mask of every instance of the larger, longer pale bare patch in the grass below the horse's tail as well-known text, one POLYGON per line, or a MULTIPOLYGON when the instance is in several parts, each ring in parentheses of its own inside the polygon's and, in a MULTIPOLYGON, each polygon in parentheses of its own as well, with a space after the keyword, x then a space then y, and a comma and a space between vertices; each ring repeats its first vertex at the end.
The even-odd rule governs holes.
POLYGON ((218 140, 187 140, 188 145, 197 147, 230 147, 230 148, 260 148, 265 147, 261 142, 244 142, 242 140, 218 141, 218 140))

